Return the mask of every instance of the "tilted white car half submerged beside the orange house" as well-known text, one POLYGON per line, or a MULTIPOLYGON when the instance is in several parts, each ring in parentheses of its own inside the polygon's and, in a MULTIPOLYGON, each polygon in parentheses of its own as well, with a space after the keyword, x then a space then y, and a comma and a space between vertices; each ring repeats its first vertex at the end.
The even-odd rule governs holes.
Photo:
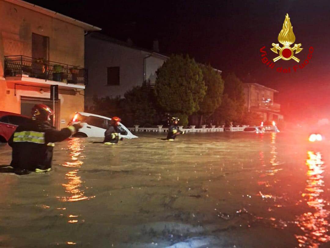
MULTIPOLYGON (((85 112, 76 112, 72 118, 70 125, 76 124, 78 122, 82 123, 82 128, 79 129, 79 132, 75 134, 75 137, 98 137, 104 138, 104 132, 108 128, 111 118, 105 117, 102 115, 85 113, 85 112)), ((139 138, 132 134, 123 124, 119 122, 118 126, 119 137, 125 139, 139 138), (120 134, 124 133, 124 134, 120 134)))

